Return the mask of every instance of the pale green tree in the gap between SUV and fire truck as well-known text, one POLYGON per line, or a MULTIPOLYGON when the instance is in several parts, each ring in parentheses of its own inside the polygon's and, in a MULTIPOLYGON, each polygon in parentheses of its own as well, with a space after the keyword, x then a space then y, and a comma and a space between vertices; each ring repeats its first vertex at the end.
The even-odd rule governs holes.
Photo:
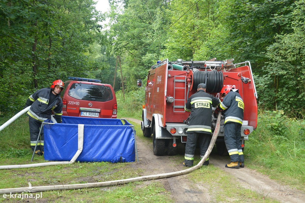
MULTIPOLYGON (((120 56, 127 89, 136 89, 136 81, 147 76, 147 70, 160 58, 166 35, 164 23, 167 3, 160 0, 129 0, 120 11, 116 1, 110 1, 109 46, 113 56, 120 56)), ((125 87, 125 89, 126 89, 125 87)))

